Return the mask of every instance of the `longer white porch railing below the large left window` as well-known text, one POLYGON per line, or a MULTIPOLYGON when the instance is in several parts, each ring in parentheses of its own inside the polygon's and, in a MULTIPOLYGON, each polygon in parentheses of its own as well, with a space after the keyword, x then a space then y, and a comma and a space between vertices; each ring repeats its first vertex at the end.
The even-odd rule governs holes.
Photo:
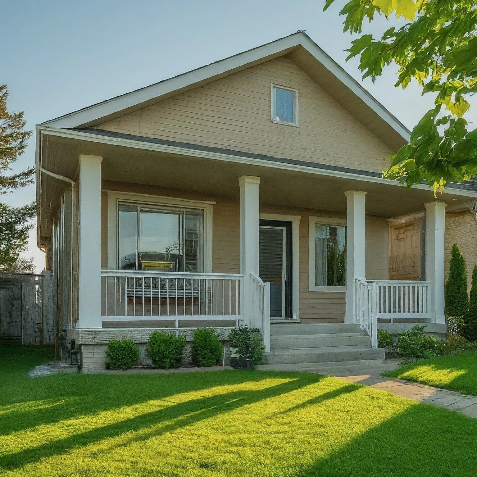
POLYGON ((102 270, 102 317, 125 320, 243 320, 240 274, 102 270))

